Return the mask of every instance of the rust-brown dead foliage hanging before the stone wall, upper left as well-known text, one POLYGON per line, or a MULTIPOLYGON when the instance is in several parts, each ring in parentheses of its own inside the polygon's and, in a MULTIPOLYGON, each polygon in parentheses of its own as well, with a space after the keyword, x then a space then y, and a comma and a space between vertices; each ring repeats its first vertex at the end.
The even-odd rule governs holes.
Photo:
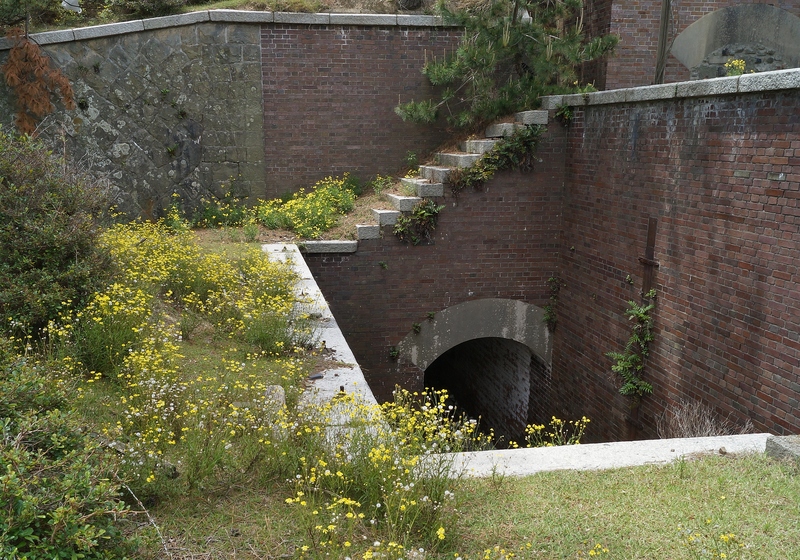
POLYGON ((14 46, 0 70, 17 100, 17 128, 33 134, 37 121, 55 110, 53 97, 60 98, 67 109, 74 109, 74 93, 67 77, 27 33, 13 28, 8 38, 14 46))

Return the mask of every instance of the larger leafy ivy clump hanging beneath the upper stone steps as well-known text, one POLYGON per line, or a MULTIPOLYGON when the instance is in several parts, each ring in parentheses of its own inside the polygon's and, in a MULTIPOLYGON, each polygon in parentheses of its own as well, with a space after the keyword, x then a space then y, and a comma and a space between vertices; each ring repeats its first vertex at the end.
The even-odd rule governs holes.
POLYGON ((453 170, 449 177, 453 194, 457 195, 468 187, 481 188, 501 169, 532 167, 533 152, 543 131, 541 126, 521 126, 511 136, 498 140, 491 150, 470 167, 453 170))

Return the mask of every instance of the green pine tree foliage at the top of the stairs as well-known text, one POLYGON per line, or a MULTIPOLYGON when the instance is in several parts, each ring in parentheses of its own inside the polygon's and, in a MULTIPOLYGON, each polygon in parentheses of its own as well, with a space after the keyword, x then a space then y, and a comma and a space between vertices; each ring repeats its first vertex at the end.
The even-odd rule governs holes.
POLYGON ((612 35, 584 37, 582 0, 472 0, 440 9, 464 27, 464 38, 422 69, 443 88, 441 99, 398 105, 403 120, 433 122, 444 109, 451 124, 467 127, 534 108, 542 95, 580 91, 579 66, 617 43, 612 35))

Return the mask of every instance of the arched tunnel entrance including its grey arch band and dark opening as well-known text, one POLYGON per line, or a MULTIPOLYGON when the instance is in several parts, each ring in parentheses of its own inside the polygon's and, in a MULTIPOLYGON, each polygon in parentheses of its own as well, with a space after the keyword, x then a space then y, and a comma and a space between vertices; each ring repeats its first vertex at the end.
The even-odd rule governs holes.
POLYGON ((549 418, 550 332, 542 309, 481 299, 435 313, 399 344, 401 361, 424 372, 427 387, 447 389, 503 441, 549 418))

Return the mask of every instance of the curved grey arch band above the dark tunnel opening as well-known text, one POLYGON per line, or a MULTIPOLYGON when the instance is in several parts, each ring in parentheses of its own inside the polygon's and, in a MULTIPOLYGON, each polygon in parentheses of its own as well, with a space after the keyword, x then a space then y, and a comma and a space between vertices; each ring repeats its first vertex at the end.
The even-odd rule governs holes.
POLYGON ((513 299, 478 299, 436 313, 398 345, 403 361, 421 370, 461 343, 481 338, 504 338, 527 346, 548 366, 552 363, 552 337, 544 311, 513 299))

